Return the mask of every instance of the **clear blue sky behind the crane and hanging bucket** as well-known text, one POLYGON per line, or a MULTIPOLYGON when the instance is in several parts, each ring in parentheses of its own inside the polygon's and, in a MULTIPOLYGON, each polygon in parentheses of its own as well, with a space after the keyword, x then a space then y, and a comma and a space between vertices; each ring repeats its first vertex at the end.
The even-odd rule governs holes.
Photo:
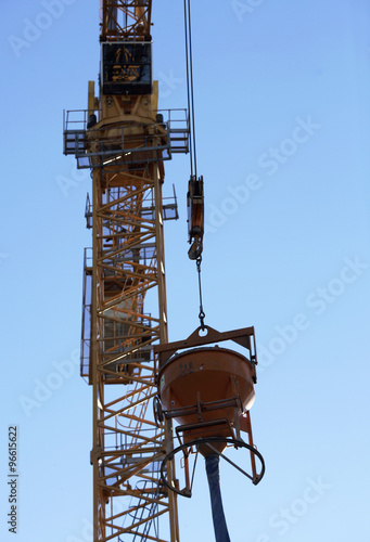
MULTIPOLYGON (((252 423, 266 475, 253 487, 222 465, 231 540, 368 542, 370 8, 193 4, 205 322, 254 325, 259 353, 252 423)), ((160 106, 186 107, 182 2, 153 0, 153 22, 160 106)), ((7 2, 0 24, 1 540, 14 540, 7 452, 16 424, 17 540, 87 542, 91 390, 76 360, 90 178, 62 154, 62 112, 86 108, 97 79, 99 2, 7 2)), ((188 157, 175 156, 165 179, 180 211, 165 229, 170 340, 197 326, 188 179, 188 157)), ((179 519, 183 542, 214 540, 201 465, 179 519)))

